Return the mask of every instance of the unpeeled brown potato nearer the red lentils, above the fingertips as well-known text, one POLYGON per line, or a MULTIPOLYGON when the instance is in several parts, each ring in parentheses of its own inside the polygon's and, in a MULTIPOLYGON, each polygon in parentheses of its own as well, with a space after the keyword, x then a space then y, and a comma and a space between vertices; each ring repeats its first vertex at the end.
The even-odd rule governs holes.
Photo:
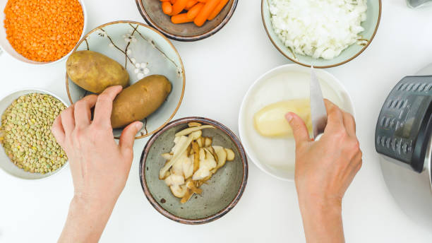
POLYGON ((69 78, 81 88, 100 94, 106 88, 129 84, 129 74, 118 62, 92 51, 73 52, 66 61, 69 78))

